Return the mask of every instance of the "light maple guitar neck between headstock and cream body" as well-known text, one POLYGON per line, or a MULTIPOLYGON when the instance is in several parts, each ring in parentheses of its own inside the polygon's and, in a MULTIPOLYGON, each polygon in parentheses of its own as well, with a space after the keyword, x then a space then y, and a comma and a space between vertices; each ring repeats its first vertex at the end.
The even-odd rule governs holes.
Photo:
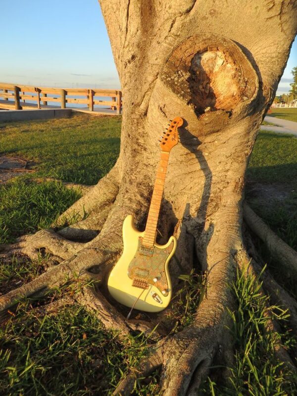
POLYGON ((155 243, 158 217, 164 191, 164 183, 169 160, 169 152, 161 151, 160 161, 157 169, 156 181, 150 201, 148 220, 145 230, 143 245, 152 247, 155 243))

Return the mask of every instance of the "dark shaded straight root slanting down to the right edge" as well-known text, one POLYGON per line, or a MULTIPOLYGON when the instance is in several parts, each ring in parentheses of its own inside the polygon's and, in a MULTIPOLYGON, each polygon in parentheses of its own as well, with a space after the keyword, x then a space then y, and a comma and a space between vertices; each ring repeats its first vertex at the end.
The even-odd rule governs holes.
POLYGON ((271 255, 297 279, 297 252, 279 238, 255 212, 244 203, 244 219, 248 227, 264 242, 271 255))

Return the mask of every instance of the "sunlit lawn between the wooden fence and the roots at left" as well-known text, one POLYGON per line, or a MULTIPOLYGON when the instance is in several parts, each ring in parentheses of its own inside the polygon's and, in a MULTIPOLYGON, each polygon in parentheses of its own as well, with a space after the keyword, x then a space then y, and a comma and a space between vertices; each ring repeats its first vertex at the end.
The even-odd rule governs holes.
POLYGON ((0 148, 5 155, 34 161, 36 176, 96 184, 115 163, 121 117, 75 113, 70 119, 1 124, 0 148))

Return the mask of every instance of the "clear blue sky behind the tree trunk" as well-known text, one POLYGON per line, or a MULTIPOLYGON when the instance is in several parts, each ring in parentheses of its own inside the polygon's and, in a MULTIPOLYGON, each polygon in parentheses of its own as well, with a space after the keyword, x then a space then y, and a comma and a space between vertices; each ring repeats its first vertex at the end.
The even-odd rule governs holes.
MULTIPOLYGON (((0 16, 0 82, 120 89, 98 0, 0 0, 0 16)), ((277 95, 295 66, 297 39, 277 95)))

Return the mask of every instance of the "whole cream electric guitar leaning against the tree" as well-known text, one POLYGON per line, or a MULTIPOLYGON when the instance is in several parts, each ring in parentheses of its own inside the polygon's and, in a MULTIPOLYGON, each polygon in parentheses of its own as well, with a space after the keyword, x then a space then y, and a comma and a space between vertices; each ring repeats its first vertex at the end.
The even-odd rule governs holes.
POLYGON ((139 232, 135 229, 132 215, 125 218, 123 253, 112 269, 107 282, 112 297, 128 307, 142 311, 161 311, 166 308, 171 299, 172 288, 168 263, 175 252, 176 239, 173 236, 170 237, 166 245, 158 245, 155 239, 169 154, 171 148, 178 144, 177 128, 182 125, 183 119, 175 117, 167 131, 163 133, 160 141, 160 161, 146 230, 139 232))

